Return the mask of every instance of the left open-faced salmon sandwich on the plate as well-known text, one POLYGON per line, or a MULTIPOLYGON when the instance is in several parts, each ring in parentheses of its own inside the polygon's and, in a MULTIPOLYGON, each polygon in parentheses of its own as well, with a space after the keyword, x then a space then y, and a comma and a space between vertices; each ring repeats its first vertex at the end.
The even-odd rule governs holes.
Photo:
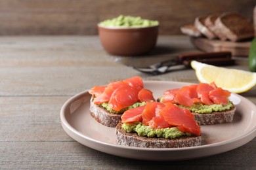
POLYGON ((91 90, 91 115, 108 127, 116 127, 125 110, 155 101, 150 90, 144 89, 142 78, 133 76, 106 86, 95 86, 91 90))

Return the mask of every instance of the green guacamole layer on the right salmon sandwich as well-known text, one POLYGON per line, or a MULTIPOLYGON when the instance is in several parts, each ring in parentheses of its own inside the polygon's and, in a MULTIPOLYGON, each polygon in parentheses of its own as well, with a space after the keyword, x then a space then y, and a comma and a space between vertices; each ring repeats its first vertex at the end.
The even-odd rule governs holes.
POLYGON ((202 103, 195 103, 192 105, 192 107, 186 107, 182 105, 178 105, 181 108, 186 108, 190 110, 191 112, 196 112, 196 113, 210 113, 210 112, 222 112, 224 110, 230 110, 232 107, 234 107, 232 101, 229 101, 228 105, 203 105, 202 103))

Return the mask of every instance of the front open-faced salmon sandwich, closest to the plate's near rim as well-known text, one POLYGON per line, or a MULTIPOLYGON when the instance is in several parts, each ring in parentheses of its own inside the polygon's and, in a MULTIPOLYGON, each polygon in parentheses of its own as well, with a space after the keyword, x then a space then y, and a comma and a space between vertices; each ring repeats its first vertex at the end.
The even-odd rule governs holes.
POLYGON ((116 143, 144 148, 199 146, 201 129, 190 110, 147 102, 123 113, 116 127, 116 143))

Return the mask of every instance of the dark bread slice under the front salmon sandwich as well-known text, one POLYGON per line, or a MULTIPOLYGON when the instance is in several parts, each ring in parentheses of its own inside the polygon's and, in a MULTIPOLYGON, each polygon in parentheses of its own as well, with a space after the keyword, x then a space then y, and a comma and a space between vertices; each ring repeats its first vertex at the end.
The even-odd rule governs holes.
POLYGON ((177 137, 176 139, 141 137, 137 133, 123 130, 121 128, 122 124, 122 122, 119 122, 116 126, 116 144, 142 148, 182 148, 201 145, 201 136, 177 137))

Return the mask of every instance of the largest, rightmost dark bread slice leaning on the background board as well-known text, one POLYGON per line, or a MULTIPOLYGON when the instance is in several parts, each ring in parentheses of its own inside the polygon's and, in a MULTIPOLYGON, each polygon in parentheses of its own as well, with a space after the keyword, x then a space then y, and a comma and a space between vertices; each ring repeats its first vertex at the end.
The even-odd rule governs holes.
POLYGON ((242 41, 254 37, 253 24, 236 12, 225 12, 215 21, 215 26, 230 41, 242 41))

